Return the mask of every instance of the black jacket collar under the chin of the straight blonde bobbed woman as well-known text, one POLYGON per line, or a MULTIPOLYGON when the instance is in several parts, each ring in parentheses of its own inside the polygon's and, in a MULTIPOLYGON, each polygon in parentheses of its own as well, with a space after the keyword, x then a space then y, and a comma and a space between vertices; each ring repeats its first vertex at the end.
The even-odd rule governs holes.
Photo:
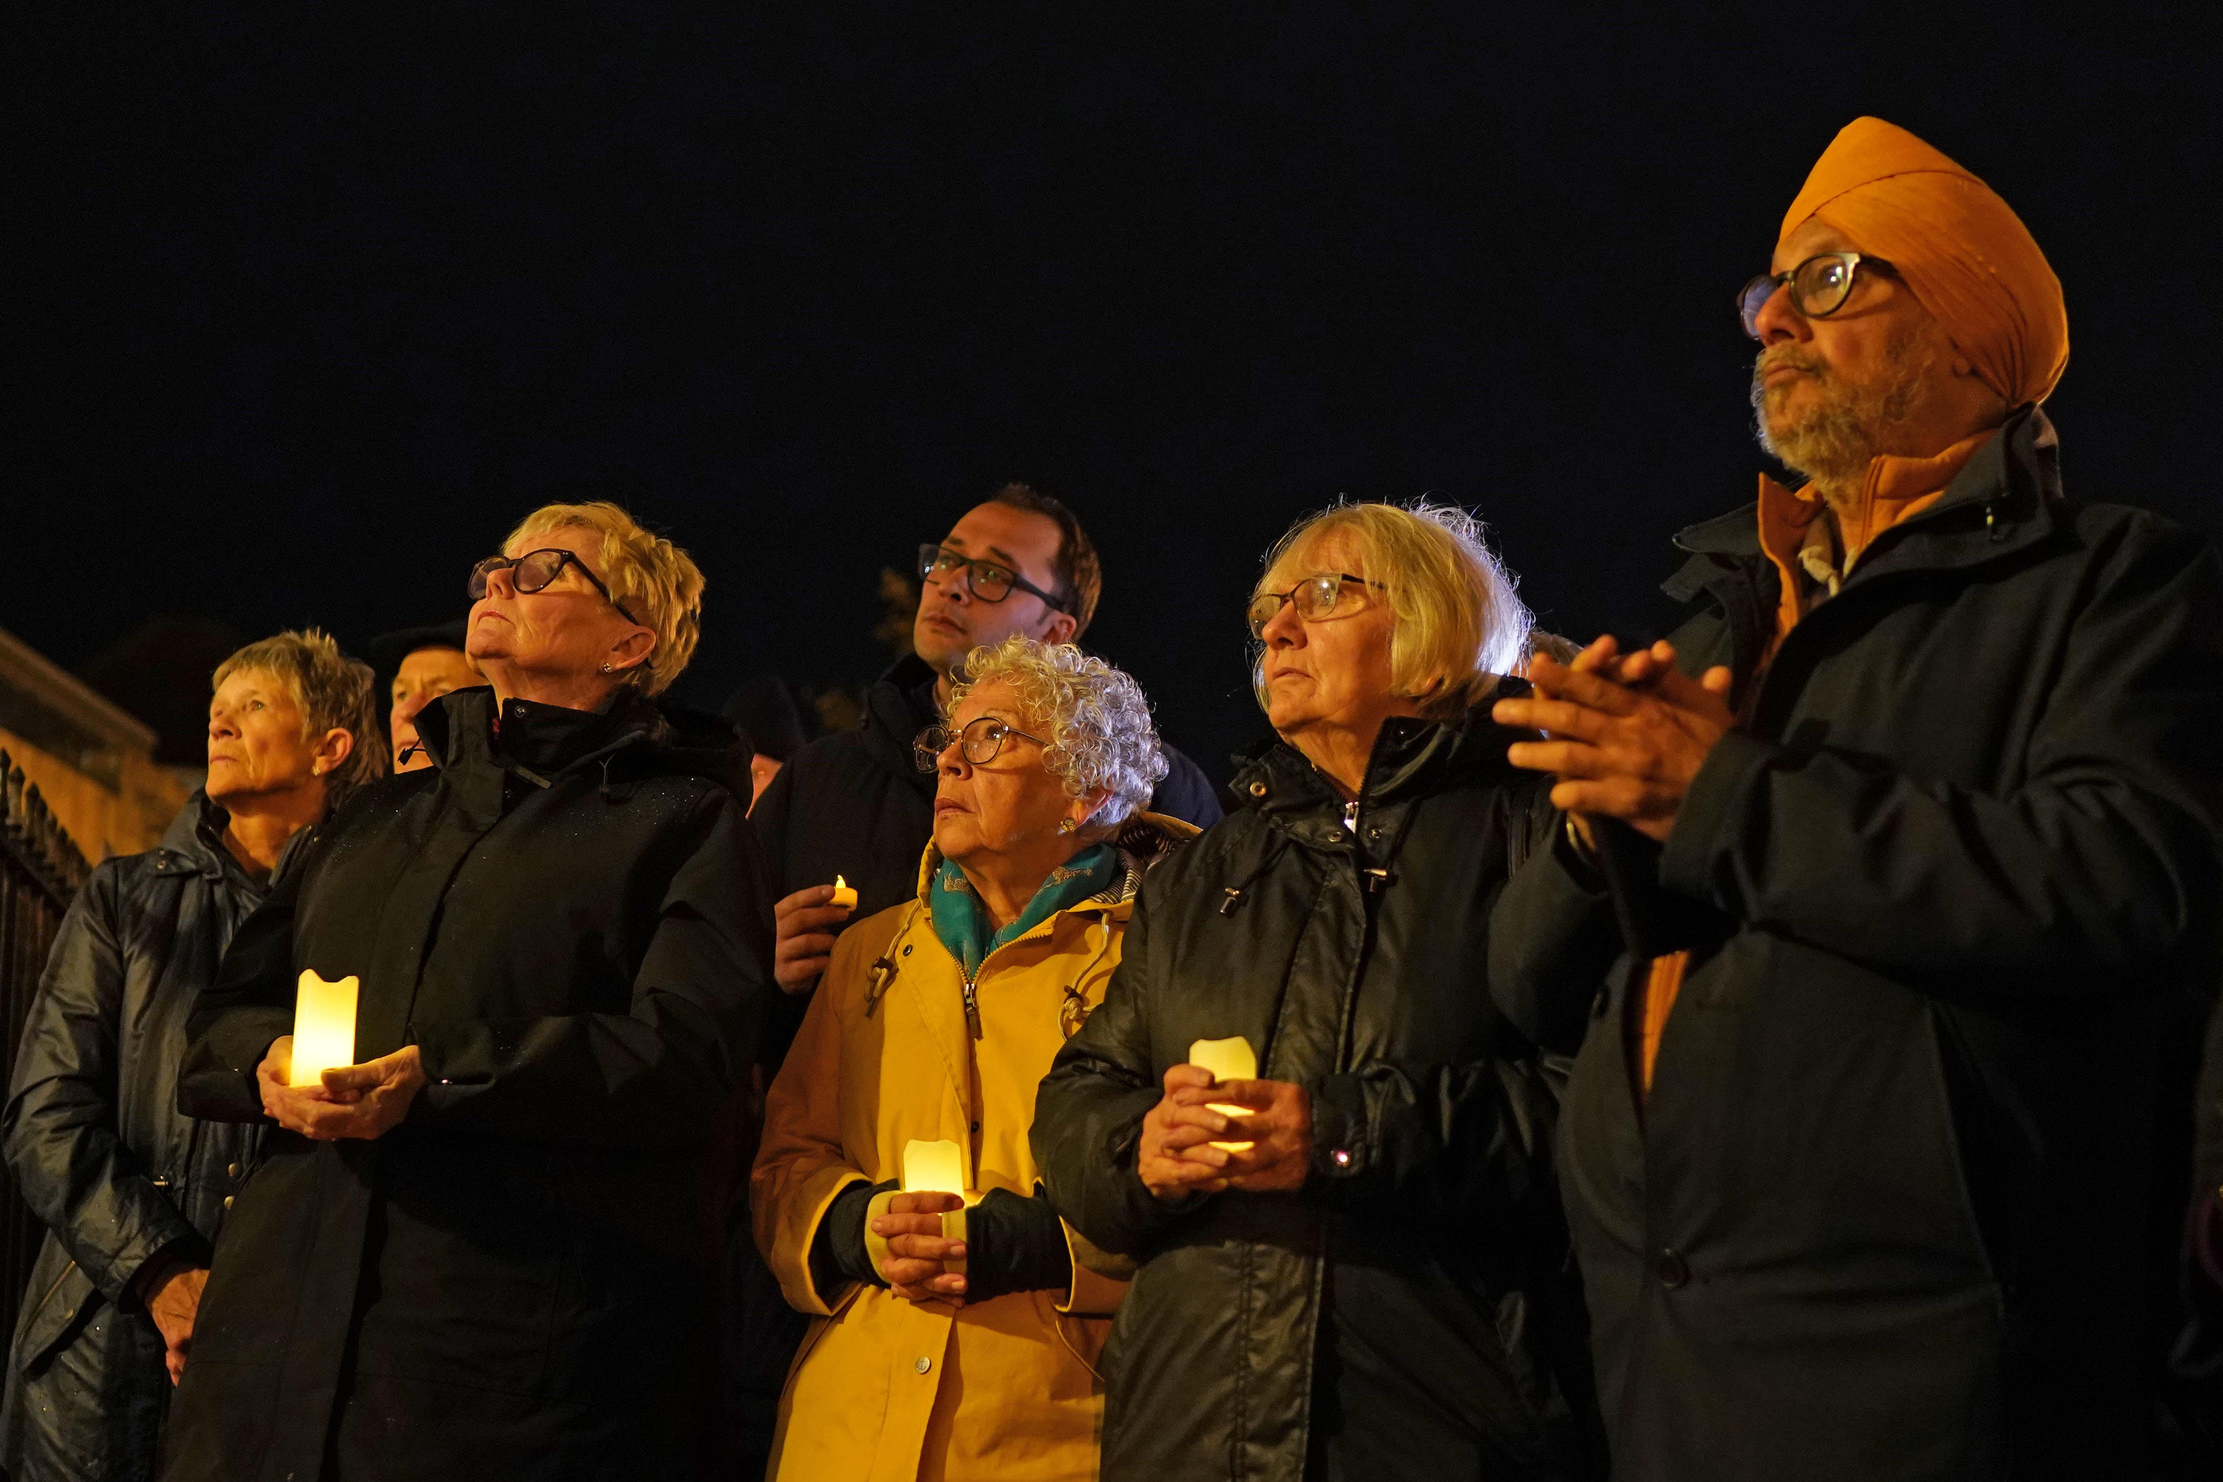
MULTIPOLYGON (((1385 720, 1367 758, 1360 804, 1372 809, 1423 798, 1467 778, 1503 773, 1509 767, 1505 747, 1527 733, 1501 727, 1489 718, 1489 707, 1525 693, 1527 680, 1505 678, 1487 700, 1449 720, 1385 720)), ((1283 740, 1260 742, 1247 755, 1236 755, 1234 795, 1240 807, 1285 827, 1298 818, 1340 815, 1345 807, 1336 784, 1283 740)))

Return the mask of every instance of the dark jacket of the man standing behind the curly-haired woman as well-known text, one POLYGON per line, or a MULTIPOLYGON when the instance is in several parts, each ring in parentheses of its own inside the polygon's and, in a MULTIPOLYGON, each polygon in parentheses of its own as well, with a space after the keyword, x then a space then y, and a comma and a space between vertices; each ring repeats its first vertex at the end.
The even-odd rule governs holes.
MULTIPOLYGON (((789 895, 807 884, 856 887, 865 920, 918 893, 918 855, 934 835, 934 773, 918 771, 911 740, 940 715, 934 671, 898 660, 865 691, 865 724, 820 735, 765 787, 749 822, 771 855, 771 887, 789 895)), ((1212 782, 1189 758, 1165 749, 1169 771, 1152 813, 1209 829, 1220 820, 1212 782)))

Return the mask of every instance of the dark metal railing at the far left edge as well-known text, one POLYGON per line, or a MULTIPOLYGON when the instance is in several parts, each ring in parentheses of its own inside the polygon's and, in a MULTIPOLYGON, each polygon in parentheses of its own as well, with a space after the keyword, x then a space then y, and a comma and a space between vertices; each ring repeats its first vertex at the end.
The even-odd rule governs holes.
MULTIPOLYGON (((87 869, 38 787, 0 751, 0 1075, 13 1078, 22 1020, 87 869)), ((16 1335, 16 1309, 44 1238, 16 1180, 0 1180, 0 1351, 16 1335)))

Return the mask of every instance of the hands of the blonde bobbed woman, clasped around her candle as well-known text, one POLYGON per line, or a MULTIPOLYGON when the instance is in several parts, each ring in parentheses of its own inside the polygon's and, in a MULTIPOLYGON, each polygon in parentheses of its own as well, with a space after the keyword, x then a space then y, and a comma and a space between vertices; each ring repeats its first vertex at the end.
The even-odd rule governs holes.
POLYGON ((1312 1171, 1312 1093, 1287 1080, 1214 1080, 1198 1064, 1165 1071, 1165 1095, 1143 1118, 1136 1155, 1143 1186, 1160 1200, 1185 1193, 1296 1193, 1312 1171), (1232 1118, 1220 1107, 1247 1107, 1232 1118), (1236 1153, 1214 1142, 1249 1142, 1236 1153))

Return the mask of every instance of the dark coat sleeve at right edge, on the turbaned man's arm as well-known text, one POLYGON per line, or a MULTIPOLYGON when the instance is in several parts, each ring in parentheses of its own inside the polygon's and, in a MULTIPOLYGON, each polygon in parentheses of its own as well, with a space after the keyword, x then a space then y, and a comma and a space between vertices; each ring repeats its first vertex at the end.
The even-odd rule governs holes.
POLYGON ((1945 989, 1983 975, 1987 991, 2085 991, 2207 931, 2223 824, 2216 558, 2147 524, 2099 553, 2090 582, 2021 787, 1978 793, 1729 733, 1676 815, 1663 882, 1945 989))

